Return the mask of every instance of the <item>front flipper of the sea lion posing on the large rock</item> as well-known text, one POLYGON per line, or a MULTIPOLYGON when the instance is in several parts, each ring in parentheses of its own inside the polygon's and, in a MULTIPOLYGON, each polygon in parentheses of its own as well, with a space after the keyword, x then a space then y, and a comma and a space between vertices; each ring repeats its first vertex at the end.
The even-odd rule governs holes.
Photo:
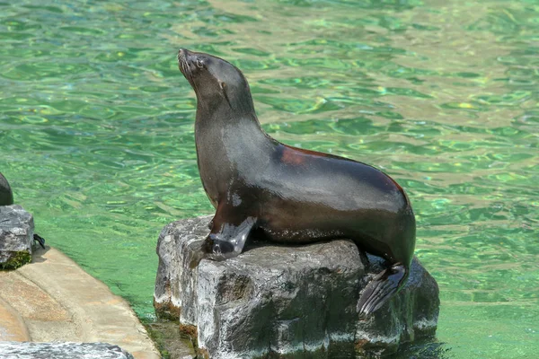
POLYGON ((208 253, 208 258, 224 260, 242 253, 245 241, 255 223, 254 217, 247 217, 238 225, 226 222, 216 224, 214 220, 213 228, 202 245, 203 250, 208 253))

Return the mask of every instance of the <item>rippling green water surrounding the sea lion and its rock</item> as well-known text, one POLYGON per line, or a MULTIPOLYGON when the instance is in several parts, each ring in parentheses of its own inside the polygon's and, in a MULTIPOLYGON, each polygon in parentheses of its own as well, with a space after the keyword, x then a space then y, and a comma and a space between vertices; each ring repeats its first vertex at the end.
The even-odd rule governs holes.
POLYGON ((141 318, 163 225, 212 212, 185 47, 243 70, 271 136, 407 190, 441 356, 537 357, 538 0, 0 0, 0 41, 0 171, 141 318))

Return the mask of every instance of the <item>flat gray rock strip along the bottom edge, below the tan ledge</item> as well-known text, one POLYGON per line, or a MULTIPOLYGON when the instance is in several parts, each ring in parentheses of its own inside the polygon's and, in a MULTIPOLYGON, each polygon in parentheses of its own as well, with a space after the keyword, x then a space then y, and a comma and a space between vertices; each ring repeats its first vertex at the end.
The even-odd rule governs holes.
POLYGON ((133 359, 119 346, 107 343, 0 342, 3 359, 133 359))

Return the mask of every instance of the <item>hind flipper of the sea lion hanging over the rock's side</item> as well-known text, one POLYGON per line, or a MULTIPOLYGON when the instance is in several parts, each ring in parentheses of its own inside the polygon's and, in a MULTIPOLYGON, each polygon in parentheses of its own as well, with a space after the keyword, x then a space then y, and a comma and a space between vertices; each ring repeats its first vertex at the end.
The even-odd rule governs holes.
POLYGON ((376 275, 359 298, 359 315, 368 315, 382 307, 406 283, 409 273, 408 267, 397 263, 376 275))

